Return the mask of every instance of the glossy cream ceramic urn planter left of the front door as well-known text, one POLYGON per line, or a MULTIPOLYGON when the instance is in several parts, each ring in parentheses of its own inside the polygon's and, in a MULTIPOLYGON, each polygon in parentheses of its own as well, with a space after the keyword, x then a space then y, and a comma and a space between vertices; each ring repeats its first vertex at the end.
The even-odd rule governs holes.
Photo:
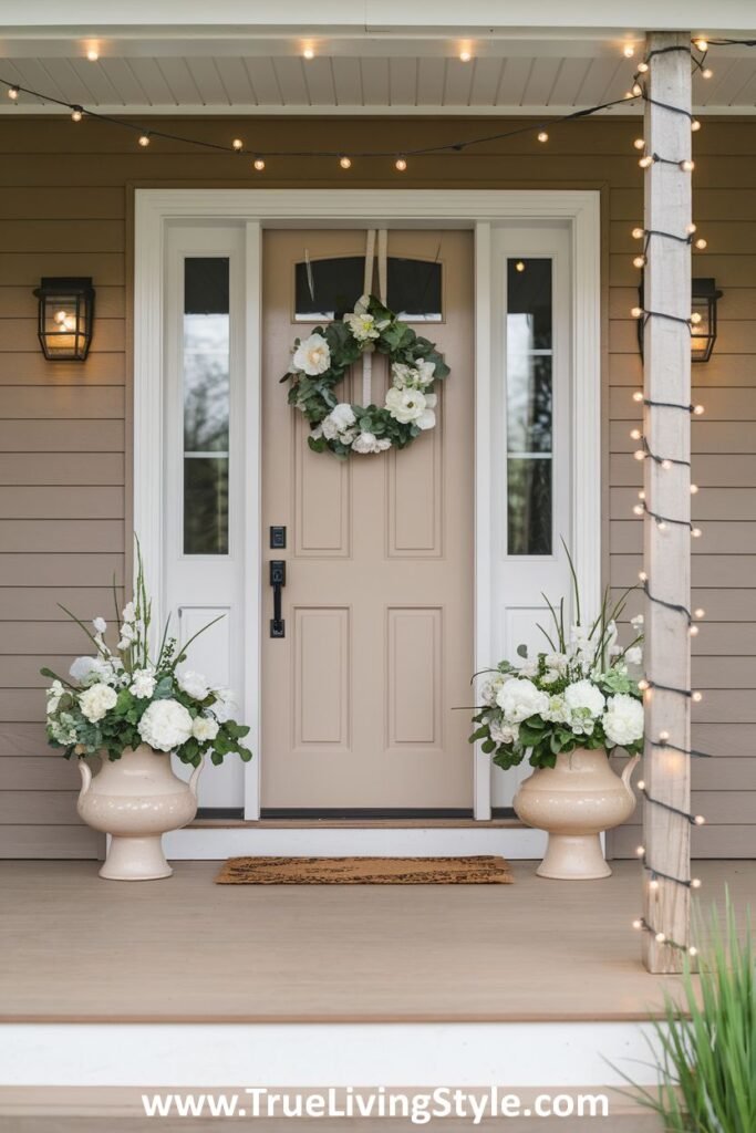
POLYGON ((103 759, 96 775, 79 759, 79 816, 95 830, 111 835, 100 877, 112 881, 148 881, 170 877, 162 835, 190 823, 197 812, 197 780, 173 774, 170 755, 146 743, 127 749, 120 759, 103 759))

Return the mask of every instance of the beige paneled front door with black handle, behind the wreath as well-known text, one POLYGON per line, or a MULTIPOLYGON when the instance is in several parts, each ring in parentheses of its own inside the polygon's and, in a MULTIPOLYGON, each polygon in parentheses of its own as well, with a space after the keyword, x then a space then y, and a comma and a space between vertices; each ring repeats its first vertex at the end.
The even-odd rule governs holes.
MULTIPOLYGON (((440 261, 442 321, 416 323, 451 367, 436 428, 340 462, 307 446, 279 384, 296 337, 297 264, 364 256, 364 231, 267 231, 263 258, 263 545, 286 528, 286 636, 263 569, 262 806, 469 810, 473 665, 473 241, 391 231, 389 256, 440 261)), ((354 264, 354 259, 352 259, 354 264)), ((306 269, 299 269, 301 273, 306 269)), ((389 301, 391 297, 389 297, 389 301)), ((360 400, 359 367, 342 390, 360 400)), ((387 386, 373 366, 373 400, 387 386)))

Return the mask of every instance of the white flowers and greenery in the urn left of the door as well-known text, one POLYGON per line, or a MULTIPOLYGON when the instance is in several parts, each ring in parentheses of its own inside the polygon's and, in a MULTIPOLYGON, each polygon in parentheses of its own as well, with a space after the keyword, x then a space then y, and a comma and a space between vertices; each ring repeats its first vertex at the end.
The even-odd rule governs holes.
MULTIPOLYGON (((231 752, 245 761, 252 759, 252 752, 240 742, 249 729, 230 718, 229 690, 211 688, 201 673, 179 671, 198 634, 179 648, 169 637, 167 624, 158 658, 151 661, 151 603, 138 543, 135 600, 127 603, 120 614, 116 602, 114 651, 105 642, 104 617, 95 617, 90 630, 65 611, 87 634, 95 655, 77 657, 70 680, 42 670, 52 682, 46 690, 49 743, 62 748, 67 758, 103 755, 120 759, 124 751, 146 743, 155 751, 172 751, 195 767, 207 752, 214 764, 231 752)), ((199 633, 205 629, 209 627, 199 633)))

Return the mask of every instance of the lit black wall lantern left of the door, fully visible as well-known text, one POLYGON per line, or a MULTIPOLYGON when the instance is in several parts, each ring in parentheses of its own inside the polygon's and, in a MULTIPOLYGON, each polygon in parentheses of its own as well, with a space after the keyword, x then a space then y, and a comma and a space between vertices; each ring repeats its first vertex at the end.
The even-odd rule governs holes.
POLYGON ((91 276, 45 276, 34 295, 40 300, 37 334, 50 361, 84 361, 94 323, 91 276))

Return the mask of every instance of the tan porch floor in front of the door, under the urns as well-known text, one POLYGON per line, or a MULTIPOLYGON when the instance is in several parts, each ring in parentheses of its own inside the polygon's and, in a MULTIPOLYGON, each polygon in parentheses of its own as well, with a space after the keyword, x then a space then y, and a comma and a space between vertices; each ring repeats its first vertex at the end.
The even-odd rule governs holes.
MULTIPOLYGON (((96 862, 0 864, 0 1022, 637 1020, 674 978, 631 929, 640 880, 512 886, 102 881, 96 862)), ((756 862, 696 864, 703 901, 756 905, 756 862)))

